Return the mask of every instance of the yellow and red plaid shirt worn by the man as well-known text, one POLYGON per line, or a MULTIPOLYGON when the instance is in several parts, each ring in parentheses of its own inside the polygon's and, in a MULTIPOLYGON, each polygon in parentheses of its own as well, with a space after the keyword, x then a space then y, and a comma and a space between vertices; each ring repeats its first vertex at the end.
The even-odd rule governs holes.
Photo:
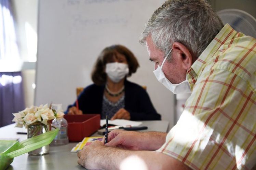
POLYGON ((256 39, 228 24, 187 71, 192 89, 158 150, 192 169, 256 164, 256 39))

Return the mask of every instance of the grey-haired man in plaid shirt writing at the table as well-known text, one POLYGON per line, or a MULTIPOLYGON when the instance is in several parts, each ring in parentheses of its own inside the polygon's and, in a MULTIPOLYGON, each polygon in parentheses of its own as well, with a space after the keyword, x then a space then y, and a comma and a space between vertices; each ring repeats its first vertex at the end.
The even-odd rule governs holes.
POLYGON ((157 79, 191 92, 166 133, 112 131, 78 153, 87 169, 252 169, 256 163, 256 40, 223 23, 203 0, 167 0, 140 43, 157 79))

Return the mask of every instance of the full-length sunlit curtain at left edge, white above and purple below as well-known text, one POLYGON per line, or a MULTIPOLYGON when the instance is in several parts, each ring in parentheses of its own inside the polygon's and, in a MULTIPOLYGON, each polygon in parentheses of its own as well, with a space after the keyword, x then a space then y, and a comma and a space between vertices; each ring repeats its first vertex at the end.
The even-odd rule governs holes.
MULTIPOLYGON (((0 0, 0 69, 6 71, 10 66, 5 62, 19 60, 12 4, 10 0, 0 0)), ((22 111, 24 107, 21 72, 0 72, 0 127, 13 123, 12 113, 22 111)))

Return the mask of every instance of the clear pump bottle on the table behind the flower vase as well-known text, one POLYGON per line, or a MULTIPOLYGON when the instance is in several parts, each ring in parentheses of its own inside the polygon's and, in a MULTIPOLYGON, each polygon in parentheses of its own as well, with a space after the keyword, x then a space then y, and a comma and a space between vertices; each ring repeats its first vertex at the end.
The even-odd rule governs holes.
MULTIPOLYGON (((62 112, 62 104, 52 104, 52 109, 58 113, 62 112)), ((55 136, 50 146, 59 146, 68 144, 68 122, 63 117, 55 118, 52 121, 52 129, 59 128, 58 134, 55 136)))

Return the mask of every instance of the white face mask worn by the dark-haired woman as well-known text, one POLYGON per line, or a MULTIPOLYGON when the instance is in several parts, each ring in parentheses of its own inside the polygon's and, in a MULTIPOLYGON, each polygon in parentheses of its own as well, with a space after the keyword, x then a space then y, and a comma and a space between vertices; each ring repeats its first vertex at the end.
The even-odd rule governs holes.
POLYGON ((129 73, 129 68, 124 63, 107 63, 106 73, 113 82, 118 83, 129 73))

